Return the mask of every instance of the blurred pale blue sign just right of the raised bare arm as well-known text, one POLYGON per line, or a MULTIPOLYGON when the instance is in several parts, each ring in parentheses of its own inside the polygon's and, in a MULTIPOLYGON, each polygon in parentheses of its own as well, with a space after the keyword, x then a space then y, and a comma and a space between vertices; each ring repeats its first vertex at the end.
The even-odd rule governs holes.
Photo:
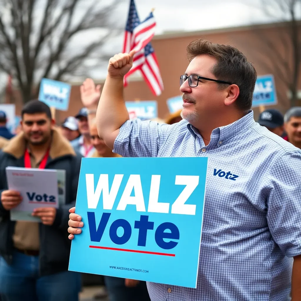
POLYGON ((126 101, 130 119, 150 120, 158 117, 157 101, 126 101))

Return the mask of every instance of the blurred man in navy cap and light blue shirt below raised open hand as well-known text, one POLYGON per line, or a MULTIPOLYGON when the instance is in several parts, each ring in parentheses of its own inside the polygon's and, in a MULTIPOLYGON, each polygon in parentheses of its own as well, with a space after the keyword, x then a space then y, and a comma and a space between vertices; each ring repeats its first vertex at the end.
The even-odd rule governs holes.
POLYGON ((74 150, 84 157, 91 157, 95 152, 90 139, 89 125, 88 125, 88 110, 82 108, 75 116, 78 121, 79 138, 71 142, 74 150))

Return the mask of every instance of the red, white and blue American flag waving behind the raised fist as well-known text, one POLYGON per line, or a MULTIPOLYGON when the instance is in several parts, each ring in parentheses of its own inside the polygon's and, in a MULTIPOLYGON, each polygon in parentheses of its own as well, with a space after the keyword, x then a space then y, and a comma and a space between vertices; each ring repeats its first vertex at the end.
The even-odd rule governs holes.
POLYGON ((135 2, 131 0, 123 41, 123 53, 129 53, 133 49, 136 50, 136 53, 131 70, 124 76, 124 85, 127 85, 127 78, 132 73, 140 70, 154 95, 160 95, 163 91, 163 81, 154 48, 150 43, 155 34, 155 26, 156 21, 152 12, 143 22, 140 22, 135 2))

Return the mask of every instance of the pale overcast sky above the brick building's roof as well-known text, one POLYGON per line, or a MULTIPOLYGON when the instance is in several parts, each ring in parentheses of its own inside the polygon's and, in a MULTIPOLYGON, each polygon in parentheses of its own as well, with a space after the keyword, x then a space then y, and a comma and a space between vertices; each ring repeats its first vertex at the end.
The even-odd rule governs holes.
MULTIPOLYGON (((43 0, 41 0, 43 1, 43 0)), ((89 1, 83 0, 79 11, 89 1)), ((101 0, 100 5, 111 0, 101 0)), ((270 0, 274 2, 275 0, 270 0)), ((121 27, 125 27, 129 11, 129 0, 120 0, 113 18, 118 20, 121 27)), ((143 20, 154 8, 157 21, 156 34, 170 31, 195 31, 203 29, 216 29, 222 27, 241 26, 254 23, 267 23, 280 20, 279 13, 273 11, 275 16, 268 17, 262 10, 262 0, 135 0, 140 20, 143 20), (278 14, 278 15, 277 15, 278 14)), ((297 11, 301 12, 301 9, 297 11)), ((84 39, 95 39, 95 32, 85 33, 84 39)), ((75 45, 82 45, 83 36, 74 39, 75 45)), ((112 54, 121 51, 123 35, 110 41, 105 51, 112 54)), ((76 48, 76 47, 75 47, 76 48)), ((93 65, 93 62, 91 62, 93 65)), ((95 66, 95 65, 94 65, 95 66)), ((107 65, 97 66, 91 76, 103 79, 106 76, 107 65)))

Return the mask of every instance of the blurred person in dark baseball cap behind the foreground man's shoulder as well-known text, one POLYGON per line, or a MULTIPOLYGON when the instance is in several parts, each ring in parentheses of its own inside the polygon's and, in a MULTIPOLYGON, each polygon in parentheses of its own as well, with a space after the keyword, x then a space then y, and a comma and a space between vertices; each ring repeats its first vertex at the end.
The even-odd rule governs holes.
POLYGON ((284 118, 278 110, 268 109, 263 111, 259 115, 258 123, 280 137, 283 135, 284 118))

